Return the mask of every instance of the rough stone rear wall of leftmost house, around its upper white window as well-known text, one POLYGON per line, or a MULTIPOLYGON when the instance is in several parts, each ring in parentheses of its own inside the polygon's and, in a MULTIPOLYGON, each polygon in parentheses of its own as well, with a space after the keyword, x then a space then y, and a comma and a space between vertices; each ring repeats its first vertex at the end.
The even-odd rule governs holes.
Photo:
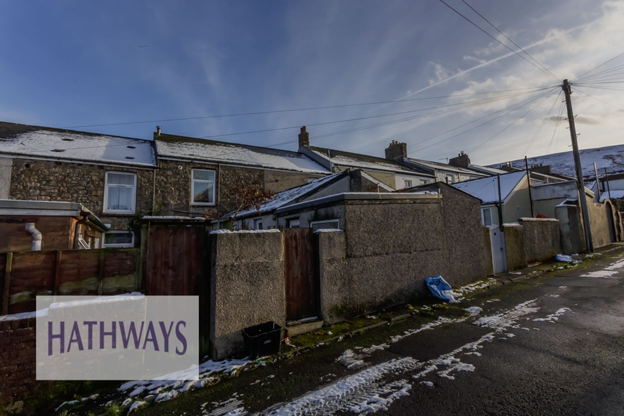
POLYGON ((112 230, 128 230, 137 215, 145 215, 152 208, 152 175, 152 170, 140 168, 16 158, 13 159, 9 199, 81 203, 104 223, 110 223, 112 230), (107 171, 137 174, 135 214, 102 212, 107 171))

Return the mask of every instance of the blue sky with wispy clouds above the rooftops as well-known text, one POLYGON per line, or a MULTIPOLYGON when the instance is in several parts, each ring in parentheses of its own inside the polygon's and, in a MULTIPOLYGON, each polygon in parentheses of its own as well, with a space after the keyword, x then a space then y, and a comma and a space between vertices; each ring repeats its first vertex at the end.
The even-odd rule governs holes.
MULTIPOLYGON (((517 49, 461 0, 446 1, 517 49)), ((397 140, 409 157, 446 162, 464 151, 481 165, 570 150, 560 89, 529 88, 624 52, 624 1, 467 2, 559 80, 437 0, 4 1, 0 120, 136 138, 161 125, 289 150, 308 125, 319 147, 383 157, 397 140), (152 121, 391 100, 404 101, 152 121), (506 109, 514 104, 524 105, 506 109), (127 124, 94 126, 108 123, 127 124)), ((574 90, 580 148, 623 143, 624 90, 574 90)))

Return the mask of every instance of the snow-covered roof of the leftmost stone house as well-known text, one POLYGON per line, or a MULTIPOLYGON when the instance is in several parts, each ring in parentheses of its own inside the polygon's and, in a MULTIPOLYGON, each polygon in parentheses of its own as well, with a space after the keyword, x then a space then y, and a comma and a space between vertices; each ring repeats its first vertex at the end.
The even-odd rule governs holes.
POLYGON ((0 153, 154 167, 149 140, 0 122, 0 153))

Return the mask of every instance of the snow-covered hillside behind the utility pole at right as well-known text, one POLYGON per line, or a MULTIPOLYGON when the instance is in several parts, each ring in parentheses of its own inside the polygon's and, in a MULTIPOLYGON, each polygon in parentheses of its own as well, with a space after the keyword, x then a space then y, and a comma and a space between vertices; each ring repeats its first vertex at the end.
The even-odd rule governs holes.
MULTIPOLYGON (((624 173, 624 145, 615 145, 607 147, 597 147, 593 149, 583 149, 580 151, 581 165, 583 167, 583 177, 593 177, 593 162, 598 167, 598 175, 604 175, 605 168, 607 172, 624 173)), ((494 163, 490 167, 497 168, 505 162, 494 163)), ((524 160, 512 161, 514 167, 524 168, 524 160)), ((553 153, 552 155, 537 156, 529 158, 529 166, 534 165, 550 165, 553 173, 569 175, 575 177, 574 159, 572 151, 553 153)))

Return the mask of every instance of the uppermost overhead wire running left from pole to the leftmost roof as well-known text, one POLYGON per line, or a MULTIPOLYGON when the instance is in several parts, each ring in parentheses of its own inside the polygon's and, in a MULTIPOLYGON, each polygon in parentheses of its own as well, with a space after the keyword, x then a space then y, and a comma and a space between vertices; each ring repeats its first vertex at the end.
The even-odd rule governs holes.
POLYGON ((321 107, 306 107, 306 108, 301 108, 301 109, 268 110, 268 111, 256 111, 256 112, 235 113, 235 114, 205 115, 205 116, 199 116, 199 117, 179 117, 177 119, 141 120, 141 121, 119 122, 119 123, 85 124, 85 125, 74 125, 74 126, 62 127, 62 128, 104 127, 104 126, 110 126, 110 125, 127 125, 127 124, 142 124, 142 123, 162 123, 162 122, 175 122, 175 121, 185 121, 185 120, 218 119, 220 117, 238 117, 238 116, 243 116, 243 115, 261 115, 261 114, 275 114, 275 113, 297 112, 297 111, 308 111, 308 110, 338 109, 338 108, 342 108, 342 107, 356 107, 356 106, 360 106, 360 105, 378 105, 378 104, 391 104, 391 103, 397 103, 397 102, 435 100, 435 99, 443 99, 443 98, 463 97, 463 96, 466 96, 466 95, 496 94, 496 93, 499 93, 499 92, 510 92, 510 91, 539 89, 539 88, 543 88, 543 87, 531 87, 531 88, 519 88, 519 89, 509 89, 509 90, 473 92, 473 93, 469 93, 469 94, 439 95, 437 97, 421 97, 421 98, 415 98, 415 99, 401 99, 401 100, 388 100, 388 101, 377 101, 377 102, 363 102, 363 103, 356 103, 356 104, 325 105, 325 106, 321 106, 321 107))

